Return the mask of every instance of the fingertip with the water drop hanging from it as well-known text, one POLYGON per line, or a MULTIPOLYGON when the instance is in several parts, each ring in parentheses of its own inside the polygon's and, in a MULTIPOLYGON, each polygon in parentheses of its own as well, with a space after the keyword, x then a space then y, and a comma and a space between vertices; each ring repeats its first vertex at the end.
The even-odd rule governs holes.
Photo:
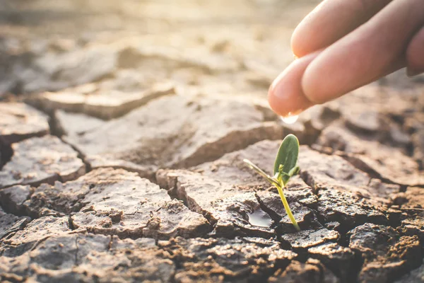
POLYGON ((278 115, 283 117, 298 115, 313 105, 303 93, 301 81, 307 65, 318 56, 319 52, 296 59, 271 84, 268 101, 272 110, 278 115))

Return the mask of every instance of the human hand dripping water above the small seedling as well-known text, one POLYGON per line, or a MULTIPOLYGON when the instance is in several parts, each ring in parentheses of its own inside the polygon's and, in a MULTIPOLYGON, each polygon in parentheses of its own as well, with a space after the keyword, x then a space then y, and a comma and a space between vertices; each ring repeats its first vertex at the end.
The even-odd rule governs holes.
POLYGON ((397 69, 424 71, 424 0, 324 0, 298 25, 296 57, 269 88, 271 108, 297 115, 397 69))

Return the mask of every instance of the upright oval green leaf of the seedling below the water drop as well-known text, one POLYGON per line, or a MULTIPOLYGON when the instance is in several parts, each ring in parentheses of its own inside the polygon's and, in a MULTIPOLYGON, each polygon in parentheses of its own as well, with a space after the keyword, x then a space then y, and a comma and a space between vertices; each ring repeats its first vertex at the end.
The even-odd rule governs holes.
POLYGON ((283 180, 283 184, 285 185, 290 179, 290 171, 291 174, 295 173, 293 168, 296 167, 298 163, 299 156, 299 141, 298 138, 295 137, 294 134, 288 134, 287 137, 283 139, 281 143, 280 149, 278 149, 278 154, 276 157, 276 162, 274 163, 274 175, 278 173, 278 168, 283 166, 281 178, 283 180))

